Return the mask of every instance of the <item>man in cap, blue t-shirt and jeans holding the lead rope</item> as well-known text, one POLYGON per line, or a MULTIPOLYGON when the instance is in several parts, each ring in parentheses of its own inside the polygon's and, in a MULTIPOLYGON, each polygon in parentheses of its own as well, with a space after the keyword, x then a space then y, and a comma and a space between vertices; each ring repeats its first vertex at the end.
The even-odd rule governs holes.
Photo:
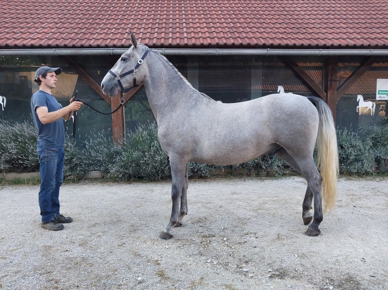
POLYGON ((83 103, 70 100, 70 105, 62 107, 51 94, 56 87, 57 75, 61 68, 40 67, 36 70, 34 82, 39 90, 31 97, 31 112, 37 130, 36 151, 39 158, 41 187, 39 206, 42 216, 42 228, 61 230, 63 223, 73 221, 59 211, 59 187, 63 180, 65 161, 65 129, 62 118, 68 120, 73 111, 81 108, 83 103))

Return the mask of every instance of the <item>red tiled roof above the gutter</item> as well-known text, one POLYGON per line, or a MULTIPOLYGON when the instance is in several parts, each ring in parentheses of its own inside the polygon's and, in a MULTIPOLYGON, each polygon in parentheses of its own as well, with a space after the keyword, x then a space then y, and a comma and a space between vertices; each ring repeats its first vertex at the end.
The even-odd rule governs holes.
POLYGON ((381 0, 7 0, 0 49, 388 46, 381 0))

